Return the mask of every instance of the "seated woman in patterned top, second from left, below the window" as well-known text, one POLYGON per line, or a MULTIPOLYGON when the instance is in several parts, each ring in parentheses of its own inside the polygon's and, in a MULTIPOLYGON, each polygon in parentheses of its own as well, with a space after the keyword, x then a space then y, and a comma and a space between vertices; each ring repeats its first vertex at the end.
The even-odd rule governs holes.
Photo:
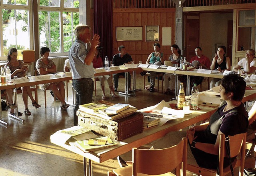
MULTIPOLYGON (((40 49, 41 58, 36 61, 36 70, 40 75, 51 74, 56 72, 56 65, 51 59, 48 59, 50 53, 50 49, 47 47, 42 47, 40 49)), ((47 84, 40 84, 40 89, 43 91, 46 88, 50 88, 54 95, 60 100, 60 108, 61 110, 66 110, 68 108, 68 104, 65 102, 65 84, 64 82, 52 82, 47 84)))

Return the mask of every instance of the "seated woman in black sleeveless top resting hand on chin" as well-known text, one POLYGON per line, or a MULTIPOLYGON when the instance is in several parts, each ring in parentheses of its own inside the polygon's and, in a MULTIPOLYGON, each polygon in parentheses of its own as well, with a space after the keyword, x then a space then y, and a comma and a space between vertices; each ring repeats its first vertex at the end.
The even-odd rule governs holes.
MULTIPOLYGON (((211 70, 218 70, 220 72, 224 72, 225 70, 230 71, 230 58, 225 56, 226 51, 225 46, 218 46, 217 54, 212 59, 211 70)), ((221 79, 213 78, 210 82, 210 88, 219 86, 220 80, 221 79)))

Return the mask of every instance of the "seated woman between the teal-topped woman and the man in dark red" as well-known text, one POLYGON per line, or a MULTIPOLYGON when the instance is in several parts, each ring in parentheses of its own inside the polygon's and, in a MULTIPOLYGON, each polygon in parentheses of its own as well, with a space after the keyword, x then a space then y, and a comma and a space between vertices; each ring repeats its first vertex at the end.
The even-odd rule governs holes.
MULTIPOLYGON (((178 45, 173 44, 171 46, 172 55, 170 55, 169 59, 172 64, 180 65, 180 60, 182 58, 180 48, 178 45)), ((175 90, 175 74, 166 73, 164 74, 164 94, 167 94, 168 90, 175 90)))

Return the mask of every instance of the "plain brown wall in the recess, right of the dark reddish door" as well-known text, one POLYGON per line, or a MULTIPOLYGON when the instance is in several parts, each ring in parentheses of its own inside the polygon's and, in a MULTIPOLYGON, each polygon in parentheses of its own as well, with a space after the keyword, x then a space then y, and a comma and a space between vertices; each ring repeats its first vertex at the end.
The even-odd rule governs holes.
POLYGON ((215 56, 215 44, 227 47, 228 20, 233 20, 233 13, 200 14, 200 46, 205 56, 215 56))

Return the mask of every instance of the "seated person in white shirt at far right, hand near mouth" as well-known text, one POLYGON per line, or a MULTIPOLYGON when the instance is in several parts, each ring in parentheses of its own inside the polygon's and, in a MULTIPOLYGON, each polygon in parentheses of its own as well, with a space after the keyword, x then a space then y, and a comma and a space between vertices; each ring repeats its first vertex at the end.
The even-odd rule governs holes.
POLYGON ((234 67, 233 71, 238 72, 238 69, 244 68, 244 70, 241 70, 241 73, 254 73, 256 70, 256 59, 255 59, 255 51, 253 49, 249 49, 245 53, 245 57, 242 58, 238 62, 238 64, 234 67))

